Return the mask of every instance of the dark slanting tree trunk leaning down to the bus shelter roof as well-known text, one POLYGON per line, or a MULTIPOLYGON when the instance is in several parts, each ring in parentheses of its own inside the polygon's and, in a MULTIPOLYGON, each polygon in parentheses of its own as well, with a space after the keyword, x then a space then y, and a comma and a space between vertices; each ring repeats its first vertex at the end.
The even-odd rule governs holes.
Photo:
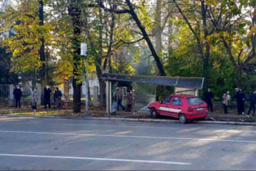
POLYGON ((164 67, 162 65, 162 62, 161 62, 159 56, 157 55, 157 52, 156 52, 156 50, 155 50, 155 48, 154 48, 154 46, 153 46, 153 44, 152 44, 152 42, 151 42, 147 32, 146 32, 146 29, 143 27, 143 25, 139 21, 139 18, 137 16, 137 14, 135 13, 134 9, 133 9, 133 5, 132 5, 131 1, 130 0, 126 0, 126 3, 129 6, 129 8, 130 8, 131 16, 133 16, 134 21, 136 22, 137 26, 139 27, 139 30, 141 30, 141 33, 143 34, 143 37, 146 40, 147 45, 149 46, 150 51, 152 52, 152 56, 154 57, 154 59, 156 61, 156 64, 157 64, 157 67, 159 68, 159 72, 160 72, 161 76, 166 76, 165 71, 164 71, 164 67))

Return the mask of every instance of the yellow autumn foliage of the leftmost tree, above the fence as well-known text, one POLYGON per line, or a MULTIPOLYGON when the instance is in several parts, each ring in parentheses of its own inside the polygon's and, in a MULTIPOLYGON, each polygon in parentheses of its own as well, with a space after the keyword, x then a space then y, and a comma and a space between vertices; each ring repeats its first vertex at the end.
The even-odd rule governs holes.
POLYGON ((39 74, 42 66, 46 65, 42 52, 43 43, 51 41, 52 28, 49 24, 43 23, 42 14, 43 4, 39 5, 37 0, 29 2, 21 0, 16 9, 8 6, 6 11, 1 13, 0 32, 5 33, 10 29, 15 32, 13 36, 5 37, 1 42, 13 53, 11 71, 16 73, 32 71, 39 74))

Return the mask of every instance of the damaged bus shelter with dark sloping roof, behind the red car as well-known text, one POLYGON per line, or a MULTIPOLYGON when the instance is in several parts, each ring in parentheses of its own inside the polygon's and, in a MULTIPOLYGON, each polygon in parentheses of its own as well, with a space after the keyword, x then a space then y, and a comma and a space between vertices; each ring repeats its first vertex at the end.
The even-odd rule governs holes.
POLYGON ((199 90, 203 89, 204 85, 204 78, 141 76, 106 73, 103 74, 102 79, 106 81, 108 114, 117 112, 117 90, 120 87, 122 87, 123 92, 123 105, 126 104, 126 96, 128 90, 130 90, 133 92, 133 111, 148 111, 147 106, 156 101, 157 86, 174 87, 176 94, 183 93, 198 96, 199 90))

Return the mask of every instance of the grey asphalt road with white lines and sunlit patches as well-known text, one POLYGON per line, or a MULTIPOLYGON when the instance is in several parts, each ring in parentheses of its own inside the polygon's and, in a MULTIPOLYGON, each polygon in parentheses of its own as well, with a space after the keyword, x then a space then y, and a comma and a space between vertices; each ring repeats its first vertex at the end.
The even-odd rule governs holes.
POLYGON ((256 127, 0 117, 0 170, 256 170, 256 127))

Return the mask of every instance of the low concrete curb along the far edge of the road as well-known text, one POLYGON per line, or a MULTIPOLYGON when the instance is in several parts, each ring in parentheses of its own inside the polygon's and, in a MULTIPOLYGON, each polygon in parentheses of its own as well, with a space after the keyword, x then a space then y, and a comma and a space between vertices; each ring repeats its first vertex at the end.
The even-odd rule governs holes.
MULTIPOLYGON (((69 117, 69 116, 0 115, 0 117, 3 117, 3 116, 6 116, 6 117, 42 118, 42 119, 119 120, 119 121, 137 121, 137 122, 180 123, 179 120, 167 120, 167 119, 132 119, 132 118, 115 118, 115 117, 69 117)), ((252 122, 223 122, 223 121, 191 121, 191 123, 256 126, 256 122, 252 123, 252 122)))

